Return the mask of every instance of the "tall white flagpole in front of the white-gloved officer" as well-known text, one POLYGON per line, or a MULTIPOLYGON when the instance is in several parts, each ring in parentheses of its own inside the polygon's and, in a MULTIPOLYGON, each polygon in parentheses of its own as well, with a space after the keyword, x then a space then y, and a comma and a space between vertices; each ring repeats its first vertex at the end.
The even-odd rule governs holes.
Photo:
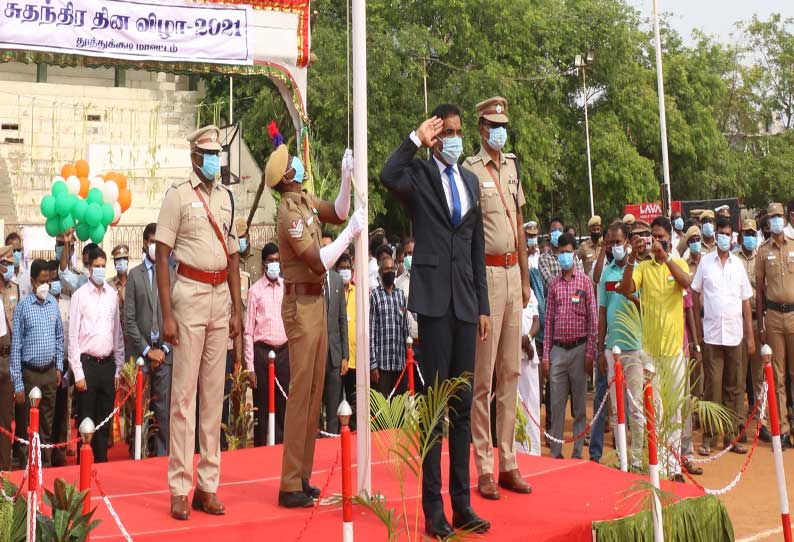
MULTIPOLYGON (((367 203, 367 13, 366 0, 353 0, 353 155, 355 207, 367 203)), ((372 494, 369 434, 369 228, 356 240, 356 473, 358 493, 372 494)))

